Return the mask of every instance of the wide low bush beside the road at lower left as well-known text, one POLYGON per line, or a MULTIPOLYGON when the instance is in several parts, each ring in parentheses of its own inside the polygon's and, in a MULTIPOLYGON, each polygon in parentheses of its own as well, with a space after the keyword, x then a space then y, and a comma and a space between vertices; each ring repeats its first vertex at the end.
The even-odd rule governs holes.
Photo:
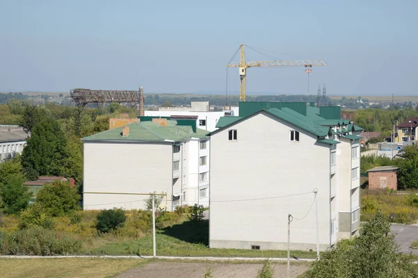
POLYGON ((3 247, 3 254, 53 256, 77 252, 81 243, 42 227, 31 227, 10 234, 3 247))

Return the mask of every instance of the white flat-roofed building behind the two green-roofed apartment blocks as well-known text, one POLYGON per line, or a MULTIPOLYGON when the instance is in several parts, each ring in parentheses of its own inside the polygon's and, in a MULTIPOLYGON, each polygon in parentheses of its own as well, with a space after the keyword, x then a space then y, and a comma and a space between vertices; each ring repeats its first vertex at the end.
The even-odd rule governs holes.
POLYGON ((191 106, 181 107, 159 107, 158 111, 144 111, 145 116, 152 117, 171 117, 195 120, 199 129, 214 131, 220 117, 238 116, 238 107, 228 107, 229 109, 219 109, 219 111, 210 111, 209 101, 192 101, 191 106))

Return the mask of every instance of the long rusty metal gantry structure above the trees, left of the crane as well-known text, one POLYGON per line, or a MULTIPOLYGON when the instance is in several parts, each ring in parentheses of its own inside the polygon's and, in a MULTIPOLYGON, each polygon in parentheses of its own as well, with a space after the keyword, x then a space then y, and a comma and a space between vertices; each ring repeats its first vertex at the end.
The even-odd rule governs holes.
POLYGON ((138 107, 141 97, 144 97, 144 89, 142 87, 137 91, 72 89, 70 95, 76 106, 87 104, 104 106, 104 104, 116 102, 129 103, 132 107, 138 107))

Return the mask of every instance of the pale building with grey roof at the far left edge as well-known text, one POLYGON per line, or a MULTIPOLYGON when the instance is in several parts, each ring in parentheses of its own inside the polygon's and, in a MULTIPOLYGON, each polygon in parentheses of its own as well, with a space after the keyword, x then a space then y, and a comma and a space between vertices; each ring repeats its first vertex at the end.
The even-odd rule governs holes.
POLYGON ((29 134, 17 125, 0 125, 0 163, 22 154, 29 134))

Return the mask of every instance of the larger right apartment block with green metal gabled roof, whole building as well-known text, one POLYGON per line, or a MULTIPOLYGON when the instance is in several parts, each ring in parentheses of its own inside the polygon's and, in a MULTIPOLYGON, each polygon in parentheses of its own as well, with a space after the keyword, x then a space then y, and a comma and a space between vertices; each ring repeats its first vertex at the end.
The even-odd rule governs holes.
POLYGON ((291 214, 291 249, 315 250, 315 202, 320 250, 357 232, 362 129, 340 113, 244 102, 235 121, 219 120, 210 133, 210 247, 285 250, 291 214))

